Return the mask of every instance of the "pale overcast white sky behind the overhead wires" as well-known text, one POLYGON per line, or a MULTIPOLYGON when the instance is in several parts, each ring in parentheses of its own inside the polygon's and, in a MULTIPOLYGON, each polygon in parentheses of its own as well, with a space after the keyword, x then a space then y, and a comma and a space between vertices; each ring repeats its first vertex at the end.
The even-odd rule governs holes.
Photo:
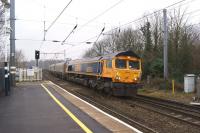
MULTIPOLYGON (((41 51, 41 59, 82 58, 105 27, 105 32, 144 14, 163 9, 180 0, 72 0, 63 14, 49 28, 44 39, 44 21, 47 29, 70 0, 16 0, 16 49, 22 50, 27 60, 35 57, 35 50, 41 51), (97 17, 99 16, 99 17, 97 17), (72 31, 64 45, 63 41, 72 31), (90 39, 92 38, 92 39, 90 39), (60 55, 44 53, 61 53, 60 55)), ((183 7, 187 12, 195 11, 192 23, 199 22, 199 0, 186 0, 171 8, 183 7)), ((170 10, 170 8, 169 8, 170 10)), ((134 23, 130 26, 134 26, 134 23)), ((99 38, 101 39, 102 36, 99 38)))

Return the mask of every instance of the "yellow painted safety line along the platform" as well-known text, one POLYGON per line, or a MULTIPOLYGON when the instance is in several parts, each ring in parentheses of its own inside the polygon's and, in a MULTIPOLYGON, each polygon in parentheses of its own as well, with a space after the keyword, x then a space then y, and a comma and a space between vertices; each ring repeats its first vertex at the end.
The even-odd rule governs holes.
POLYGON ((51 96, 51 98, 67 113, 86 133, 93 133, 86 127, 71 111, 69 111, 43 84, 41 86, 51 96))

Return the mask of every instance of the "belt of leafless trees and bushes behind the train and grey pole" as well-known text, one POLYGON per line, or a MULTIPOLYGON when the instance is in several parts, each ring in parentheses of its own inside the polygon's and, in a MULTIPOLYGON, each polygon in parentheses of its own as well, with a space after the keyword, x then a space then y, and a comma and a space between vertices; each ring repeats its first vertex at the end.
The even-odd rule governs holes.
MULTIPOLYGON (((190 25, 185 12, 186 10, 181 8, 168 12, 169 75, 175 79, 183 79, 186 73, 200 73, 200 27, 190 25)), ((108 33, 94 44, 85 56, 93 57, 115 51, 132 50, 143 59, 143 76, 162 76, 162 13, 145 17, 136 27, 108 33)))

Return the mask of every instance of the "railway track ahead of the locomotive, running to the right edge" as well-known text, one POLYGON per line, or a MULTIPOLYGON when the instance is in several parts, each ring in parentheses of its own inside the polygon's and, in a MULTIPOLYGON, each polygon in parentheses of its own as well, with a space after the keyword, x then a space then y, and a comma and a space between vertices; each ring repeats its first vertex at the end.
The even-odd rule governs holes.
POLYGON ((163 100, 143 95, 133 98, 130 106, 139 106, 150 111, 200 127, 200 109, 174 101, 163 100))

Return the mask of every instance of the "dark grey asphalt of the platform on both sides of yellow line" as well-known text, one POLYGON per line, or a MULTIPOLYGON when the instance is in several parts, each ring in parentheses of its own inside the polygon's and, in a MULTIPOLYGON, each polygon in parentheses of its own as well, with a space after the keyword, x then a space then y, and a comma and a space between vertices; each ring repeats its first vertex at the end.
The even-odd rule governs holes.
MULTIPOLYGON (((0 97, 0 133, 81 133, 80 126, 68 116, 41 87, 40 82, 20 83, 10 96, 0 97)), ((51 90, 80 121, 93 132, 110 132, 51 90), (78 117, 79 118, 79 117, 78 117), (86 122, 87 121, 87 122, 86 122)))

